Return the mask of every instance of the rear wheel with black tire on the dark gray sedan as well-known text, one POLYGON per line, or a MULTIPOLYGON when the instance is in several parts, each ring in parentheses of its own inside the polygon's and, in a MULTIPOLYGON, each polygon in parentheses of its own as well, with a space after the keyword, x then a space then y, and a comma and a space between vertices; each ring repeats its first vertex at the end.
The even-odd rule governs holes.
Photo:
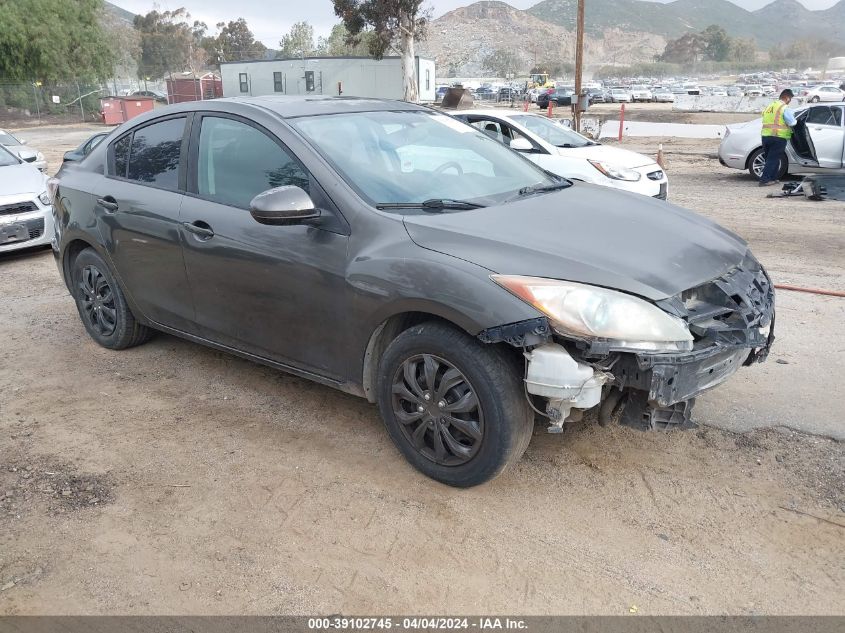
POLYGON ((152 330, 135 319, 117 280, 94 249, 77 255, 71 279, 79 318, 99 345, 126 349, 150 338, 152 330))

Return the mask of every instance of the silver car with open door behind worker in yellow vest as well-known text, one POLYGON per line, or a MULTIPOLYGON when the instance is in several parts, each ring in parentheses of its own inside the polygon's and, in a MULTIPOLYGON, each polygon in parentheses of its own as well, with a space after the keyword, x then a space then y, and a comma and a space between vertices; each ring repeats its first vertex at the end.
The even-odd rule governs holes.
MULTIPOLYGON (((786 146, 788 163, 781 163, 778 178, 787 173, 845 173, 845 104, 811 105, 796 110, 795 116, 798 123, 786 146)), ((728 125, 719 145, 719 162, 747 169, 759 180, 765 164, 762 128, 761 118, 728 125)))

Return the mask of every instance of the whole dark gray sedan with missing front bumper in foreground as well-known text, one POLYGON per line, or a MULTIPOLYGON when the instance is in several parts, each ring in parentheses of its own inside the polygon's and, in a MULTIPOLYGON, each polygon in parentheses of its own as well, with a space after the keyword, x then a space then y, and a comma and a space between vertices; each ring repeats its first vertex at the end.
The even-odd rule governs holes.
POLYGON ((774 340, 737 235, 410 103, 157 108, 55 187, 54 255, 98 344, 159 330, 367 398, 454 486, 512 466, 535 414, 689 428, 695 397, 774 340))

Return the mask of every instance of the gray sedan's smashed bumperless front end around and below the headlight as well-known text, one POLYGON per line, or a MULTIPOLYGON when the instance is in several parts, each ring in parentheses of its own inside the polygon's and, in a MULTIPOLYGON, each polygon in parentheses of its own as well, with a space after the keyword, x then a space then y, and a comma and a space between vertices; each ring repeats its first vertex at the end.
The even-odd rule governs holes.
POLYGON ((550 419, 550 431, 577 419, 579 409, 591 408, 602 424, 618 420, 642 430, 694 426, 695 398, 740 367, 764 361, 774 342, 774 287, 750 252, 724 275, 656 305, 684 321, 694 339, 691 350, 618 351, 610 343, 567 339, 531 322, 521 339, 513 331, 500 339, 523 347, 526 392, 550 419))

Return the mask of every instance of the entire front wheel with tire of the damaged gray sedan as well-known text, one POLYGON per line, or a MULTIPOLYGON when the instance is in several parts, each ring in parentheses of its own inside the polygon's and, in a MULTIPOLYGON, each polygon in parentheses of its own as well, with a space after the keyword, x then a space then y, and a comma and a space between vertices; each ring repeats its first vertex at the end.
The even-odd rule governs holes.
POLYGON ((534 426, 520 366, 441 323, 400 334, 379 364, 391 439, 420 472, 450 486, 489 481, 522 457, 534 426))

